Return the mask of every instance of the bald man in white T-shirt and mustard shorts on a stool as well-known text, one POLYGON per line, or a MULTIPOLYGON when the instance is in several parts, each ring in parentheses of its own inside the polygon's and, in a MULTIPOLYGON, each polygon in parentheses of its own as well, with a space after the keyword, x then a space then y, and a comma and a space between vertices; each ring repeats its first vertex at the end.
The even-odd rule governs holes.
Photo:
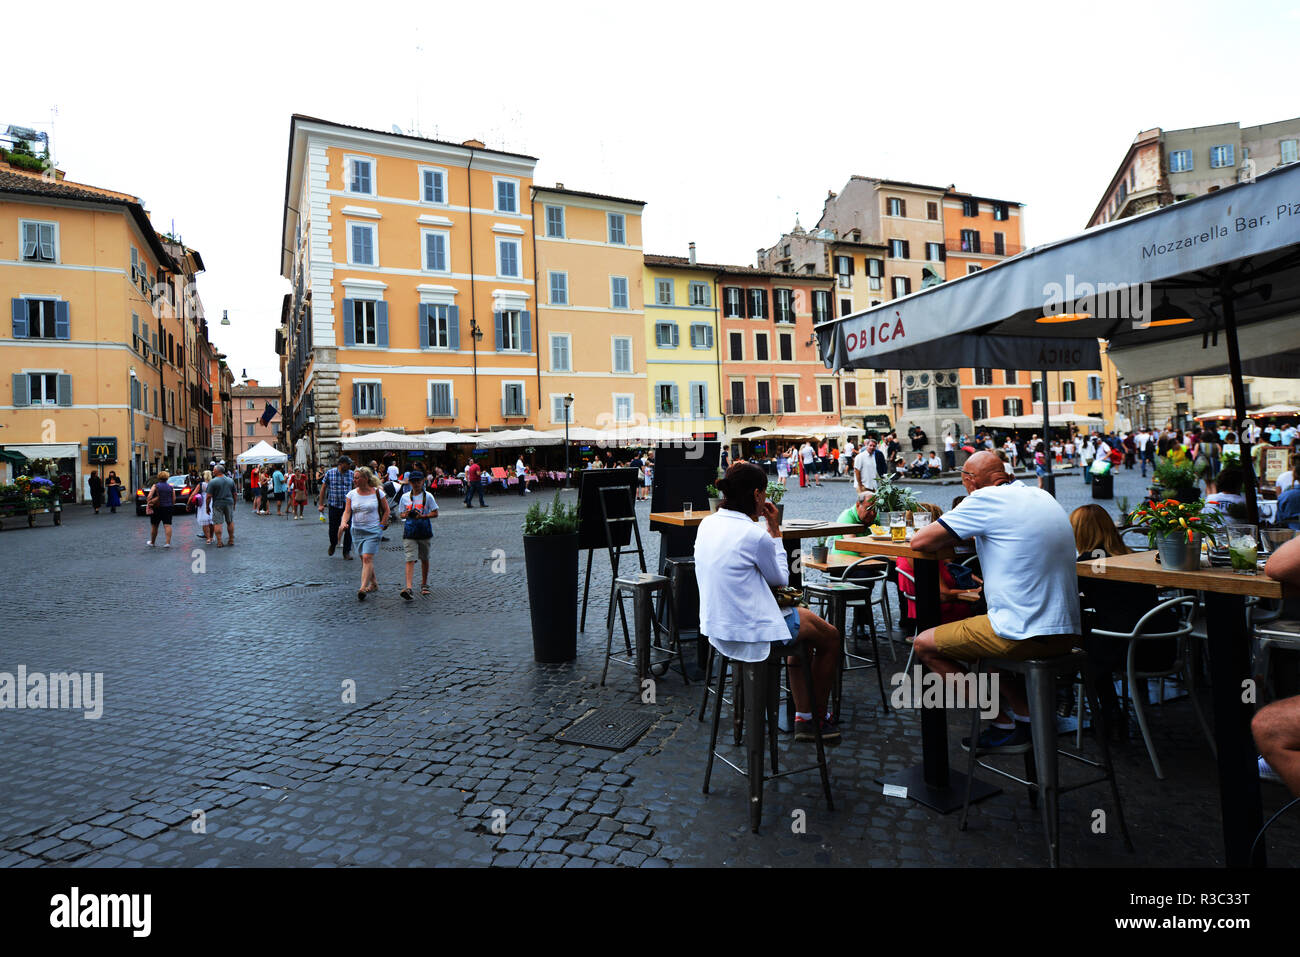
MULTIPOLYGON (((1074 529, 1043 489, 1011 481, 1002 460, 976 452, 962 467, 968 493, 961 505, 922 528, 916 551, 937 551, 974 538, 988 614, 928 628, 913 648, 940 675, 959 674, 978 658, 1054 658, 1079 636, 1079 579, 1074 529)), ((1024 753, 1031 746, 1023 688, 1001 681, 1006 705, 980 735, 980 752, 1024 753)), ((970 746, 963 742, 963 746, 970 746)))

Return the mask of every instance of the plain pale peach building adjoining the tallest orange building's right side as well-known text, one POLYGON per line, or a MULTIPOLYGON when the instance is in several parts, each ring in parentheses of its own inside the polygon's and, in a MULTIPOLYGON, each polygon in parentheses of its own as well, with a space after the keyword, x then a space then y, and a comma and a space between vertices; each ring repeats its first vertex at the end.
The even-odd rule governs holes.
POLYGON ((645 203, 534 186, 537 341, 542 429, 644 424, 646 309, 641 213, 645 203))

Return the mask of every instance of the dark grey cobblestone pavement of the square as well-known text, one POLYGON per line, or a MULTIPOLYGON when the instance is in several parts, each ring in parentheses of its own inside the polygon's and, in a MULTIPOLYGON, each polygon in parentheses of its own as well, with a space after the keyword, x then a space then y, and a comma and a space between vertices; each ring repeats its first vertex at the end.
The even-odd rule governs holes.
MULTIPOLYGON (((958 493, 922 490, 945 506, 958 493)), ((1060 493, 1067 507, 1089 501, 1078 476, 1060 493)), ((1136 472, 1119 473, 1117 494, 1136 501, 1136 472)), ((832 516, 849 498, 844 482, 793 488, 786 515, 832 516)), ((0 671, 104 672, 99 720, 0 711, 0 866, 1043 863, 1040 819, 1014 785, 980 804, 965 833, 956 815, 881 794, 879 775, 918 762, 919 722, 883 711, 870 674, 846 681, 836 810, 815 775, 781 779, 751 835, 740 776, 719 766, 701 793, 698 683, 668 675, 640 705, 615 664, 599 687, 607 560, 577 661, 533 662, 520 533, 532 501, 497 495, 484 511, 443 499, 433 596, 411 603, 396 594, 400 532, 380 554, 381 592, 358 602, 360 563, 326 557, 321 524, 243 503, 234 549, 195 549, 192 519, 177 520, 172 549, 147 549, 144 519, 82 507, 62 528, 0 533, 0 671), (602 705, 650 707, 656 722, 621 753, 554 739, 602 705)), ((647 505, 638 511, 654 562, 658 536, 647 505)), ((967 720, 952 716, 954 766, 967 720)), ((1136 853, 1113 815, 1092 832, 1093 809, 1112 804, 1088 788, 1062 802, 1065 862, 1221 862, 1213 761, 1187 700, 1154 709, 1153 724, 1165 781, 1140 739, 1117 754, 1136 853)), ((781 746, 786 765, 802 748, 781 746)), ((1282 802, 1265 785, 1265 811, 1282 802)), ((1274 831, 1274 862, 1295 859, 1300 824, 1274 831)))

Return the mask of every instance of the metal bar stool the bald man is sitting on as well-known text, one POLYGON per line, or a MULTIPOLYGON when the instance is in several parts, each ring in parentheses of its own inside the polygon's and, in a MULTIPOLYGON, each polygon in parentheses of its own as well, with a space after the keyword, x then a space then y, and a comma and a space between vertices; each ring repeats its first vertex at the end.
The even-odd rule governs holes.
POLYGON ((1119 819, 1119 831, 1124 837, 1124 846, 1134 849, 1132 839, 1128 836, 1128 826, 1124 823, 1123 805, 1119 802, 1119 785, 1115 783, 1115 767, 1110 761, 1110 746, 1106 742, 1106 728, 1101 707, 1097 701, 1097 685, 1092 672, 1092 664, 1087 651, 1074 649, 1070 654, 1058 658, 1028 658, 1024 661, 1011 661, 1009 658, 983 658, 975 662, 975 680, 980 680, 984 671, 1010 671, 1024 677, 1026 697, 1030 702, 1030 732, 1034 746, 1024 755, 1026 778, 1017 778, 1009 771, 978 761, 979 741, 979 709, 974 709, 971 718, 970 761, 966 766, 966 801, 962 805, 962 819, 959 830, 966 830, 966 818, 971 809, 971 781, 975 780, 975 765, 993 774, 1009 778, 1028 788, 1030 804, 1039 805, 1043 813, 1043 830, 1048 843, 1049 866, 1057 867, 1061 863, 1061 794, 1092 784, 1108 781, 1110 796, 1115 802, 1115 817, 1119 819), (1088 696, 1088 707, 1092 709, 1093 720, 1097 728, 1097 742, 1101 745, 1101 761, 1089 761, 1082 754, 1061 750, 1057 748, 1056 724, 1056 681, 1062 676, 1083 675, 1083 687, 1088 696), (1063 755, 1078 761, 1080 765, 1098 767, 1101 776, 1091 778, 1086 781, 1061 787, 1060 767, 1057 755, 1063 755), (1039 797, 1041 796, 1041 800, 1039 797))

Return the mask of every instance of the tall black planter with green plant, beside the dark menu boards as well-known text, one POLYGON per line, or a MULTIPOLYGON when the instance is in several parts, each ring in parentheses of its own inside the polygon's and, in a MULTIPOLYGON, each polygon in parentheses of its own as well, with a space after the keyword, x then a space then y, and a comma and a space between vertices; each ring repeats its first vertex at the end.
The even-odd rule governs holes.
POLYGON ((524 567, 533 620, 533 658, 543 663, 577 657, 577 506, 540 502, 524 515, 524 567))

